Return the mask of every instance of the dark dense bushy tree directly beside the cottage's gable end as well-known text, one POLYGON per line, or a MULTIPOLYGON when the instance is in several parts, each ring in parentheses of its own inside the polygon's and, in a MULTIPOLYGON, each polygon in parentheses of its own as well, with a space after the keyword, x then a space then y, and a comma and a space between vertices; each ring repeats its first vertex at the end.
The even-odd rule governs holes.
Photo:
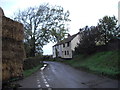
POLYGON ((75 48, 74 54, 92 54, 95 52, 96 38, 99 36, 96 26, 85 26, 80 29, 80 43, 75 48))

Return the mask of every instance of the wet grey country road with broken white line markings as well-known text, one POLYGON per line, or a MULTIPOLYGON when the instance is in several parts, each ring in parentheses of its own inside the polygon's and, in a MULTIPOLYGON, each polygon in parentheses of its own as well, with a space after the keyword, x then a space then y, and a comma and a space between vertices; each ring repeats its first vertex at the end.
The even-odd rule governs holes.
POLYGON ((18 81, 21 88, 118 88, 118 81, 76 70, 58 62, 45 62, 38 72, 18 81))

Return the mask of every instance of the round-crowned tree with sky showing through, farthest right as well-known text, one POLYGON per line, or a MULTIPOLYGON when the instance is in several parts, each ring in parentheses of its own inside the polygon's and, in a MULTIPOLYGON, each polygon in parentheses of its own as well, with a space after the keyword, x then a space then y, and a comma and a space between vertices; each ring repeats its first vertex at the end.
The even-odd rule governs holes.
POLYGON ((115 16, 104 16, 98 22, 98 29, 101 33, 99 38, 106 45, 112 38, 119 36, 119 27, 117 26, 117 19, 115 16))

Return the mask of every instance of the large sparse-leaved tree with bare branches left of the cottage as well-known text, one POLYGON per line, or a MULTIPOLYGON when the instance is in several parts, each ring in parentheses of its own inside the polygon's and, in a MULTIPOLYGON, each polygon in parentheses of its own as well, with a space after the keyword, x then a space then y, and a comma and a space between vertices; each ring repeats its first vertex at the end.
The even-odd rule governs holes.
POLYGON ((59 42, 64 39, 68 32, 69 14, 63 7, 49 4, 30 7, 16 13, 14 19, 24 25, 24 41, 30 56, 41 53, 43 45, 48 42, 59 42))

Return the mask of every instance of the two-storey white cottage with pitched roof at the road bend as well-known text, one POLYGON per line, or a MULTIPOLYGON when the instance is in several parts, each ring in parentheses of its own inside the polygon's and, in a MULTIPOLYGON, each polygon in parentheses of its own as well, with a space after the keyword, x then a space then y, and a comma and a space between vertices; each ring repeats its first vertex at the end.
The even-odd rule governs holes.
POLYGON ((73 57, 73 51, 75 47, 77 47, 77 43, 79 43, 80 34, 74 34, 72 36, 68 36, 61 42, 55 44, 53 46, 53 58, 60 57, 64 59, 70 59, 73 57))

